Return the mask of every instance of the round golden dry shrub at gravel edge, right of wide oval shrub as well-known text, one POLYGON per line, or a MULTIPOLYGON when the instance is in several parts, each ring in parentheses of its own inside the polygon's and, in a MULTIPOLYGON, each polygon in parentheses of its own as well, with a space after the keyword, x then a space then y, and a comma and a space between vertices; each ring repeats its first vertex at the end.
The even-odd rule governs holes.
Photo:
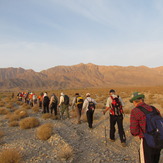
POLYGON ((47 140, 51 137, 53 126, 50 123, 43 124, 36 130, 36 137, 40 140, 47 140))

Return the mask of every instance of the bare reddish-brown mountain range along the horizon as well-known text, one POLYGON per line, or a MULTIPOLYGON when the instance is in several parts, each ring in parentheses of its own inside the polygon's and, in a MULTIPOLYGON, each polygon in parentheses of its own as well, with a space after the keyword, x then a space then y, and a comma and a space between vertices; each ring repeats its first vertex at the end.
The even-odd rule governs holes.
POLYGON ((65 89, 110 86, 163 85, 163 66, 56 66, 41 72, 0 68, 0 89, 65 89))

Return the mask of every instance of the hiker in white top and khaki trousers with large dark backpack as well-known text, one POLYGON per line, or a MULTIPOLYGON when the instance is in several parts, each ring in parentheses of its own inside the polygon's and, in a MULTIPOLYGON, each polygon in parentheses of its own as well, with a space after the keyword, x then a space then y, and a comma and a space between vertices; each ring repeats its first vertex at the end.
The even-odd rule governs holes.
POLYGON ((64 95, 64 93, 61 93, 60 100, 59 100, 59 105, 60 107, 60 116, 61 119, 63 119, 64 112, 66 111, 66 116, 69 119, 69 97, 67 95, 64 95))

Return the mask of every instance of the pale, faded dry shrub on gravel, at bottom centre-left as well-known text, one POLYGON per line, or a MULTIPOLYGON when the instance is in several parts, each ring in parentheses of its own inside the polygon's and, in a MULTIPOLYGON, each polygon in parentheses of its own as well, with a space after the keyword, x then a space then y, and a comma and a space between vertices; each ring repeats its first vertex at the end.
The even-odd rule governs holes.
POLYGON ((63 160, 68 160, 73 156, 73 149, 71 146, 69 146, 68 144, 65 145, 60 145, 61 147, 59 147, 59 151, 57 153, 57 156, 60 159, 63 160))

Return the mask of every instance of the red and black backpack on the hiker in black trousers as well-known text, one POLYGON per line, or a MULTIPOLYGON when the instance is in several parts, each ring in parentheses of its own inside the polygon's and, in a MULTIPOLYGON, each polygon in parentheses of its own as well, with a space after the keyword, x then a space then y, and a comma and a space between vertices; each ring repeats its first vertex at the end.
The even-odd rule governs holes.
POLYGON ((112 103, 111 103, 111 109, 110 109, 110 113, 112 115, 122 115, 123 113, 123 109, 122 109, 122 104, 119 100, 119 96, 117 97, 114 97, 113 96, 110 96, 111 99, 112 99, 112 103))

